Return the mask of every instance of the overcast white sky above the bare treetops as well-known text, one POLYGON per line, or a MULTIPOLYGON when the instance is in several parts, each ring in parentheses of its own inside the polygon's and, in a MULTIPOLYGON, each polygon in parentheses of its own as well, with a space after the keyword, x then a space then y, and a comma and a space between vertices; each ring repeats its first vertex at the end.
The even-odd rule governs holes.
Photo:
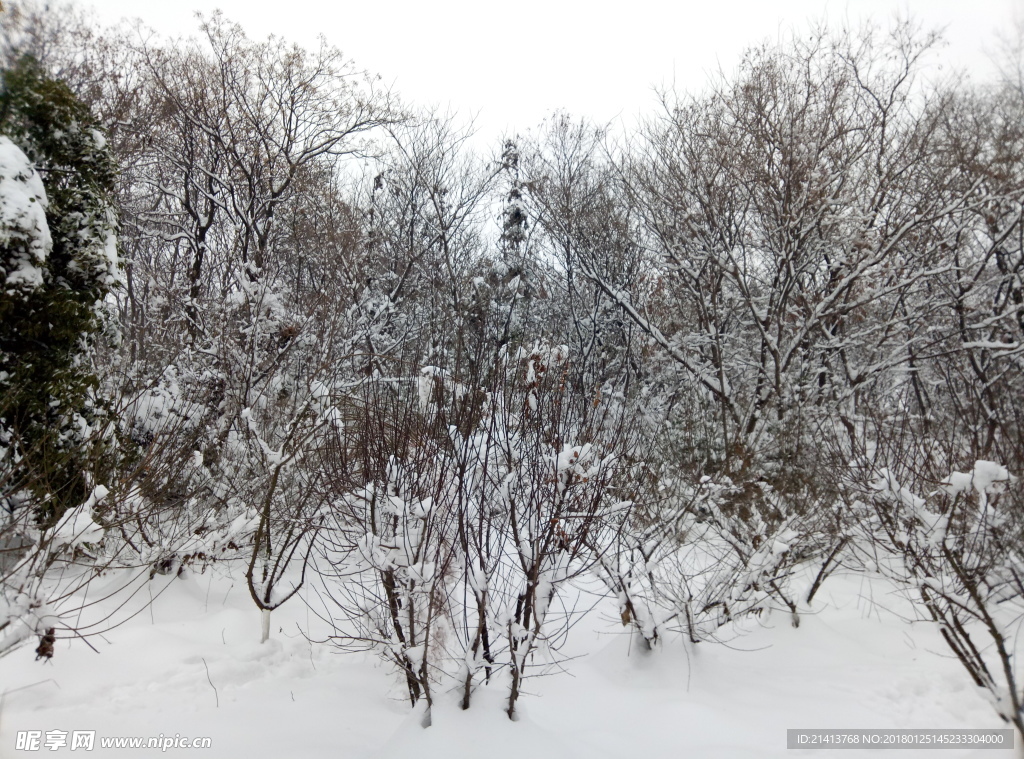
POLYGON ((314 45, 317 35, 407 100, 477 114, 480 137, 536 126, 553 110, 631 120, 652 87, 699 89, 719 68, 809 20, 886 25, 910 14, 944 28, 937 64, 988 76, 996 33, 1024 0, 83 0, 101 19, 141 17, 163 34, 190 34, 194 12, 220 8, 253 37, 314 45))

